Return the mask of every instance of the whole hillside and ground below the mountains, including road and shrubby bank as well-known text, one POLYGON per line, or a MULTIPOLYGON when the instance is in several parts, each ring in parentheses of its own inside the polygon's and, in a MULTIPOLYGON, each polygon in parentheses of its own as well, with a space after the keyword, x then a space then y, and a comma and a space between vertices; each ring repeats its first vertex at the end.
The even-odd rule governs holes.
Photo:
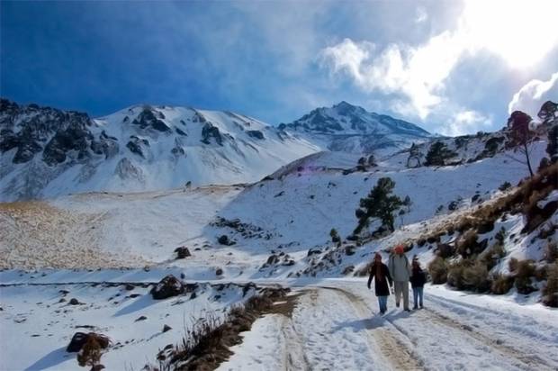
MULTIPOLYGON (((539 134, 535 168, 553 140, 539 134)), ((223 370, 437 369, 459 352, 464 369, 554 369, 557 167, 528 179, 507 137, 434 138, 372 161, 320 151, 249 184, 0 203, 0 321, 16 334, 0 345, 11 355, 24 342, 30 353, 0 365, 74 369, 66 347, 85 329, 112 339, 107 368, 172 369, 191 359, 182 352, 193 329, 212 323, 210 344, 223 328, 243 331, 224 346, 234 354, 216 355, 223 370), (392 233, 373 218, 355 236, 356 208, 383 177, 410 203, 392 233), (385 260, 400 243, 429 267, 426 309, 402 312, 391 296, 381 316, 363 275, 375 252, 385 260), (167 275, 184 293, 155 299, 167 275), (239 312, 275 285, 292 293, 257 298, 263 316, 239 312)), ((214 365, 213 356, 192 359, 214 365)))

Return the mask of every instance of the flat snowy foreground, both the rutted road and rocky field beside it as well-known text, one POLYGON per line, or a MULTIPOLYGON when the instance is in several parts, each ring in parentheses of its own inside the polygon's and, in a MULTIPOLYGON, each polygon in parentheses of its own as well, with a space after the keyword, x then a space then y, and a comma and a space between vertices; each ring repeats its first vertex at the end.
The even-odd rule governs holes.
MULTIPOLYGON (((154 301, 140 284, 157 273, 144 273, 131 290, 106 283, 3 286, 0 323, 4 334, 17 336, 2 337, 0 368, 74 370, 75 354, 65 352, 71 335, 97 330, 112 339, 102 358, 107 369, 141 369, 156 363, 159 349, 177 343, 191 321, 208 312, 220 315, 249 296, 243 297, 237 285, 219 290, 204 284, 195 290, 195 298, 189 293, 154 301), (66 301, 60 303, 62 298, 66 301), (69 305, 69 298, 83 304, 69 305), (172 330, 163 332, 164 325, 172 330), (27 356, 17 357, 22 348, 27 356)), ((4 274, 3 281, 9 276, 14 275, 4 274)), ((35 283, 61 278, 48 276, 35 283)), ((94 281, 95 275, 88 279, 94 281)), ((258 281, 258 285, 276 283, 258 281)), ((269 314, 257 320, 220 370, 558 367, 558 311, 539 303, 518 303, 514 294, 496 298, 427 285, 424 310, 402 312, 391 296, 389 311, 381 316, 365 279, 280 283, 299 295, 292 315, 269 314)))

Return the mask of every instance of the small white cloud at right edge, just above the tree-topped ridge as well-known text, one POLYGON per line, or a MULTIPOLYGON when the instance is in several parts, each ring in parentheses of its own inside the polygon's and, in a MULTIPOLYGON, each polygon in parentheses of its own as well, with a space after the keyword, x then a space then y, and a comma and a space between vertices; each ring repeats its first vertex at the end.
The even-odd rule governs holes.
POLYGON ((554 72, 548 81, 531 80, 521 87, 509 102, 508 111, 523 111, 536 118, 541 105, 548 100, 558 101, 558 72, 554 72))

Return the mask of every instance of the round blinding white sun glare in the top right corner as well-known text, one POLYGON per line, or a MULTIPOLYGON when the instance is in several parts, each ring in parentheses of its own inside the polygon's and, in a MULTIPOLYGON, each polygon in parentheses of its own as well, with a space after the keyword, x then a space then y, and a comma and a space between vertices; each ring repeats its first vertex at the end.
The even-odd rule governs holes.
POLYGON ((558 1, 472 0, 462 27, 472 49, 491 50, 511 67, 527 68, 558 44, 558 1))

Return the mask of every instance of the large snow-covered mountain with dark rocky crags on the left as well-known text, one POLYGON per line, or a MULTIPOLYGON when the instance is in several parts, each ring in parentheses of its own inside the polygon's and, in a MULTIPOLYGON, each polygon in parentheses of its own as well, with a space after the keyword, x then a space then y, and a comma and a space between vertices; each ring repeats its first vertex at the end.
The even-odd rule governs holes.
POLYGON ((99 119, 0 102, 0 201, 252 182, 320 148, 238 113, 136 105, 99 119))

